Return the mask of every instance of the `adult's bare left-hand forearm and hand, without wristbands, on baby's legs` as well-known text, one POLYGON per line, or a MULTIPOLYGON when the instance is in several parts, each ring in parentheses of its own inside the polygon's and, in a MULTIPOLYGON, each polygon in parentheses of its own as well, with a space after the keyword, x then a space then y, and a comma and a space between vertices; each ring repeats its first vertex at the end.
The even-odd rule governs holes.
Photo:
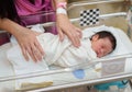
POLYGON ((9 19, 0 19, 0 28, 8 31, 16 38, 19 45, 21 46, 22 54, 26 60, 30 59, 29 55, 34 61, 42 59, 44 51, 36 39, 36 36, 41 33, 23 27, 9 19))

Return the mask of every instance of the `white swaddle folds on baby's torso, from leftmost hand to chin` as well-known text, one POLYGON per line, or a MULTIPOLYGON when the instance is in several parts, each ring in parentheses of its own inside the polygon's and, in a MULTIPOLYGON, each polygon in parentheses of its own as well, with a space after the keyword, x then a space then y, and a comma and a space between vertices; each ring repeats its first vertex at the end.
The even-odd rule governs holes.
POLYGON ((42 34, 37 38, 45 51, 44 60, 48 65, 55 64, 61 67, 70 67, 97 57, 91 49, 89 37, 82 37, 79 48, 74 47, 68 38, 61 42, 58 35, 51 33, 42 34))

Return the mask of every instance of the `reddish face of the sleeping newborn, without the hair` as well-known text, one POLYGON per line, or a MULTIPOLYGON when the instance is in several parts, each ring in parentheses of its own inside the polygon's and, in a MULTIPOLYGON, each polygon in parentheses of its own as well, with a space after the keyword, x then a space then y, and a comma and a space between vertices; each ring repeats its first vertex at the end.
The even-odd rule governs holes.
POLYGON ((96 51, 97 57, 102 57, 112 51, 112 44, 108 37, 95 37, 91 41, 91 48, 96 51))

